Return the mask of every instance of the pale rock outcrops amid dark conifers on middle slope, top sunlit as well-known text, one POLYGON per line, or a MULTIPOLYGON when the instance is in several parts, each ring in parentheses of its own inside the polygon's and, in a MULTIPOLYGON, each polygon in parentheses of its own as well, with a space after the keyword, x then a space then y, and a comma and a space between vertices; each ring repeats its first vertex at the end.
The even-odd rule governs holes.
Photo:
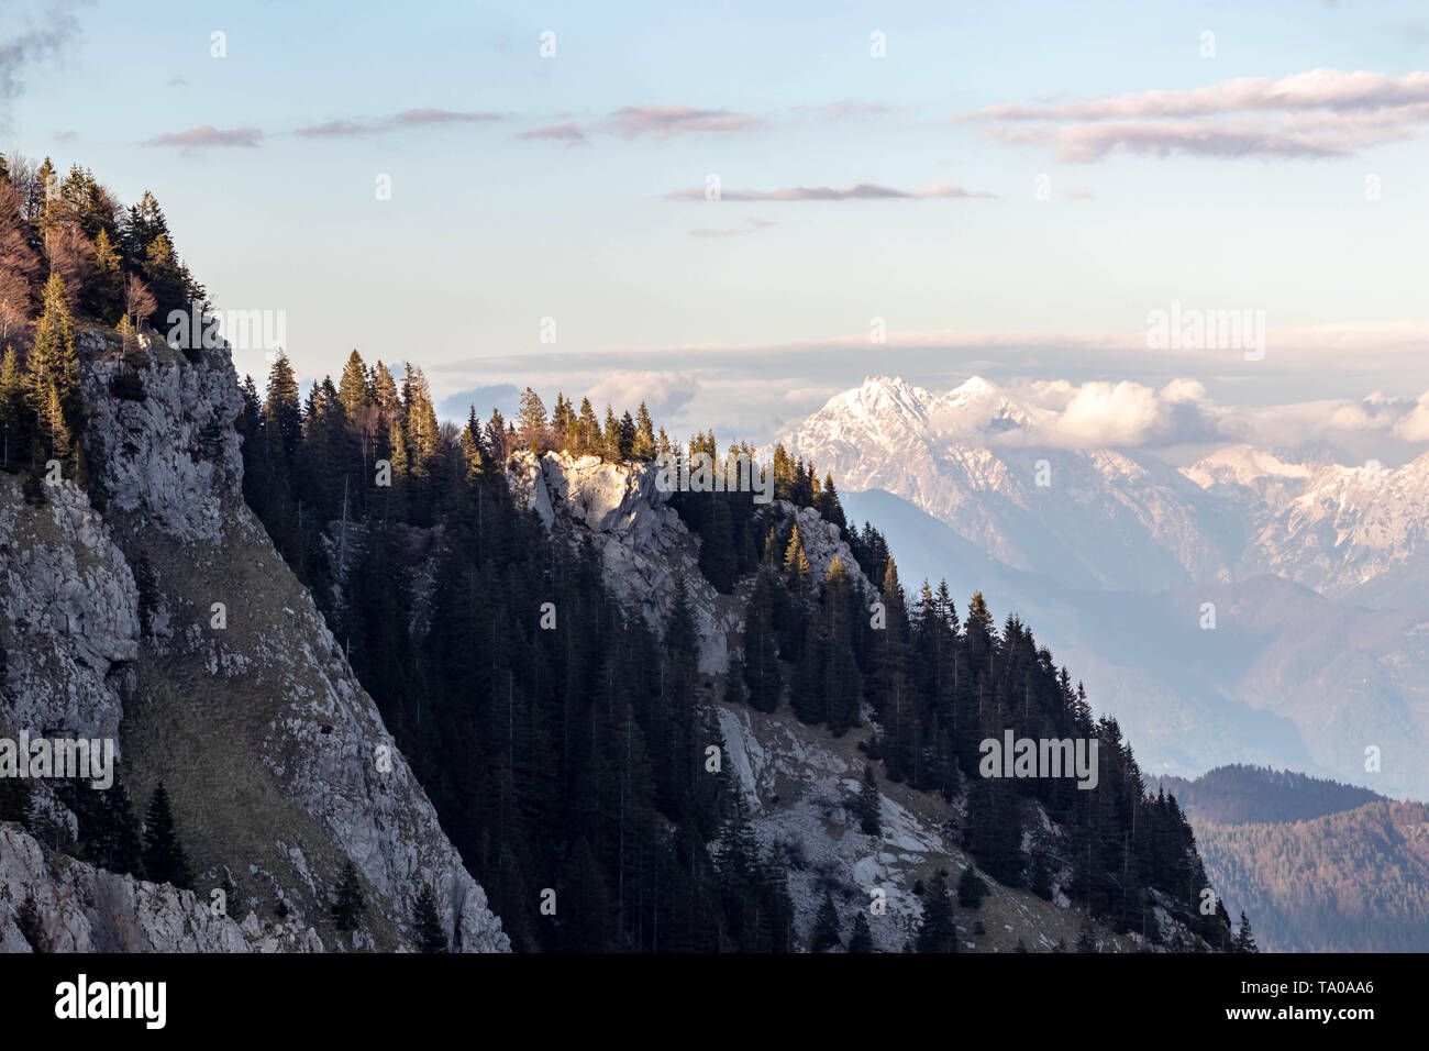
MULTIPOLYGON (((723 762, 745 796, 755 837, 763 849, 773 851, 786 872, 800 937, 807 939, 813 932, 825 891, 830 892, 845 931, 852 929, 856 912, 880 898, 890 922, 872 925, 875 944, 880 951, 902 951, 922 917, 923 887, 940 869, 947 872, 949 882, 956 882, 975 864, 962 844, 965 799, 949 804, 879 776, 882 831, 866 835, 856 801, 867 761, 859 742, 876 729, 867 711, 862 728, 833 736, 825 726, 799 722, 787 704, 766 715, 714 701, 722 691, 713 676, 726 671, 730 652, 742 645, 750 581, 742 581, 733 595, 722 595, 700 575, 699 538, 656 488, 654 466, 612 465, 569 453, 537 459, 524 453, 516 458, 510 478, 553 536, 596 546, 606 585, 632 609, 642 611, 656 631, 663 631, 677 582, 683 579, 700 632, 700 671, 712 676, 706 696, 725 741, 723 762)), ((760 513, 797 523, 812 581, 823 579, 839 558, 866 593, 877 593, 859 572, 839 529, 813 508, 776 500, 760 513)), ((1029 835, 1039 852, 1050 851, 1049 857, 1066 852, 1063 831, 1045 814, 1029 835)), ((1072 908, 1060 891, 1059 884, 1067 875, 1062 869, 1053 874, 1052 901, 987 878, 992 892, 982 909, 957 912, 960 948, 1009 952, 1019 939, 1030 951, 1073 944, 1082 928, 1082 911, 1072 908)), ((1095 938, 1105 952, 1205 947, 1170 909, 1156 908, 1155 917, 1155 932, 1116 934, 1097 927, 1095 938)))

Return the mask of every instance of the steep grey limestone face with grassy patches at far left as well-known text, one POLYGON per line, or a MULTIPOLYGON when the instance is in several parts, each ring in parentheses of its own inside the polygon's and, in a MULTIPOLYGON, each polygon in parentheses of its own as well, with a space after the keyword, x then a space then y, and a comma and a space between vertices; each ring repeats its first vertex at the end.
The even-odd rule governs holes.
POLYGON ((23 868, 14 887, 49 909, 57 944, 80 949, 316 947, 304 931, 330 929, 352 858, 373 947, 412 947, 429 885, 453 947, 509 951, 343 648, 243 502, 229 350, 190 360, 149 340, 143 396, 120 398, 111 380, 136 372, 133 352, 121 365, 103 330, 79 346, 89 485, 41 486, 34 505, 0 475, 0 732, 114 738, 137 809, 166 781, 200 894, 61 855, 59 869, 31 864, 11 857, 39 851, 17 831, 0 839, 0 867, 23 868), (206 915, 224 887, 240 895, 233 914, 267 917, 257 935, 194 919, 194 901, 206 915), (111 925, 86 911, 109 899, 111 925), (274 927, 284 932, 264 934, 274 927))

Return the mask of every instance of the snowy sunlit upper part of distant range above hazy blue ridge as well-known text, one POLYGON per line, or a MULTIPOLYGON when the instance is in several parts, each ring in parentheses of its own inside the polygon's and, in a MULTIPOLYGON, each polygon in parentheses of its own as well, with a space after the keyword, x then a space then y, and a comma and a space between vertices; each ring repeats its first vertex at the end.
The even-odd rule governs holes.
POLYGON ((777 440, 842 490, 883 489, 997 561, 1092 591, 1272 573, 1329 598, 1422 606, 1429 453, 1399 468, 1232 445, 1176 469, 1055 449, 1049 410, 973 378, 945 395, 869 378, 777 440))

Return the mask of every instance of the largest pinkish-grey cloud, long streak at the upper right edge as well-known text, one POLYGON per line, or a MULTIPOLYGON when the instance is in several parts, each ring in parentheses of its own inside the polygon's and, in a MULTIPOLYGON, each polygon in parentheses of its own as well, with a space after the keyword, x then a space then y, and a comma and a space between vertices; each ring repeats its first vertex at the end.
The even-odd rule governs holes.
POLYGON ((1429 73, 1389 77, 1316 69, 1282 80, 1239 77, 1089 102, 1005 103, 955 120, 987 122, 987 134, 997 142, 1053 146, 1056 157, 1069 163, 1119 150, 1160 157, 1343 157, 1423 134, 1429 73))

